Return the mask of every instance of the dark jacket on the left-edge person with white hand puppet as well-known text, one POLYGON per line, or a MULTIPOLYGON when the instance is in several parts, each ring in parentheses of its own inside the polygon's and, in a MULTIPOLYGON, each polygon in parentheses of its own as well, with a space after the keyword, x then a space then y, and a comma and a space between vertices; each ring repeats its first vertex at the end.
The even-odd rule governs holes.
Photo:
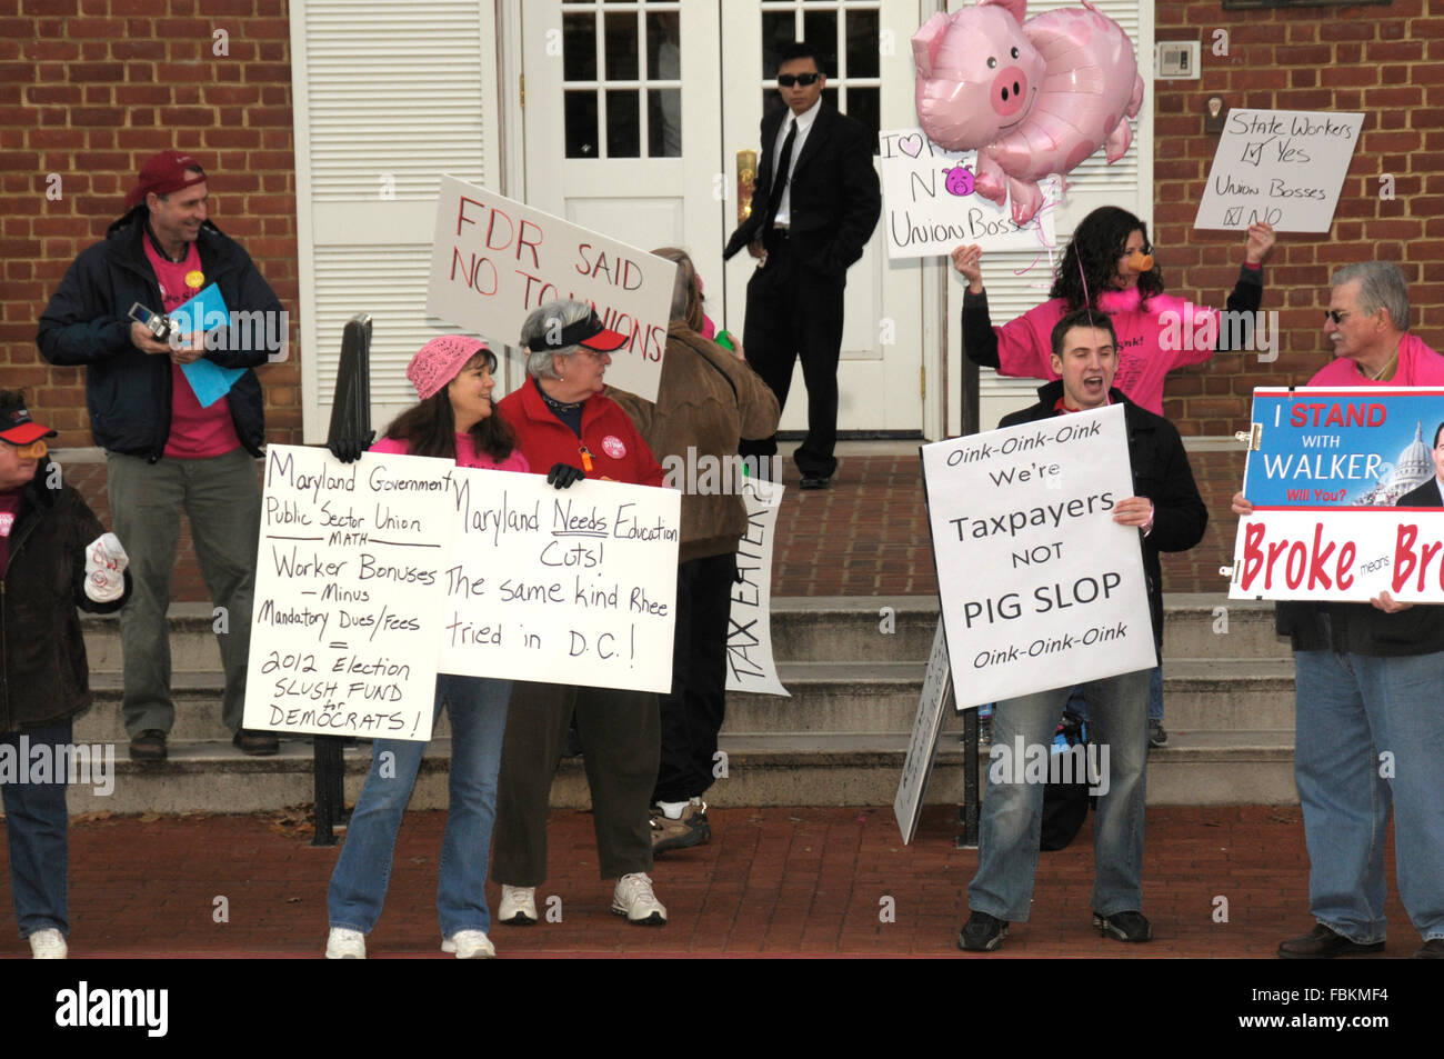
POLYGON ((0 731, 74 717, 90 708, 85 640, 75 608, 120 610, 130 598, 94 602, 85 595, 85 546, 104 533, 81 494, 46 488, 40 461, 20 494, 10 529, 10 562, 0 571, 0 731))

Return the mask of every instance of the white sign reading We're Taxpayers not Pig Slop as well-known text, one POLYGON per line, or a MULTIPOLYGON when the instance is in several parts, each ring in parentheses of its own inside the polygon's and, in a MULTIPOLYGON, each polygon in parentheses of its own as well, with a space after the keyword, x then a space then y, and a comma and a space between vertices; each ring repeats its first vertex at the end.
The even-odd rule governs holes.
POLYGON ((1123 409, 923 446, 959 708, 1151 669, 1123 409))

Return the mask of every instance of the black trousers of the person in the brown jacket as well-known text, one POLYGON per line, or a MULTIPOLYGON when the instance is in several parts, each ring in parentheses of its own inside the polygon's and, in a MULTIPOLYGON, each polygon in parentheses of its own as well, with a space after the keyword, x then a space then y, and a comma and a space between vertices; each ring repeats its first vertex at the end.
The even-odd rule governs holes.
POLYGON ((671 692, 661 696, 661 766, 654 802, 684 802, 712 786, 726 715, 726 628, 736 553, 677 566, 671 692))

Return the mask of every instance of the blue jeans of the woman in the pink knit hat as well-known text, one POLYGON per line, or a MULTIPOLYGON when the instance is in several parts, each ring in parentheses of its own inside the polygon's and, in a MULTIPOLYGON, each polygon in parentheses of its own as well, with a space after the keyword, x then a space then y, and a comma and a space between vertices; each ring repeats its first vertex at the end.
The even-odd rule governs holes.
MULTIPOLYGON (((507 731, 511 680, 477 676, 436 678, 436 712, 445 699, 451 715, 451 803, 438 871, 436 913, 442 938, 458 930, 490 930, 487 863, 497 819, 497 769, 507 731)), ((401 815, 412 800, 425 743, 377 740, 371 771, 347 828, 347 844, 331 873, 326 912, 331 926, 370 933, 381 917, 391 881, 391 857, 401 815)))

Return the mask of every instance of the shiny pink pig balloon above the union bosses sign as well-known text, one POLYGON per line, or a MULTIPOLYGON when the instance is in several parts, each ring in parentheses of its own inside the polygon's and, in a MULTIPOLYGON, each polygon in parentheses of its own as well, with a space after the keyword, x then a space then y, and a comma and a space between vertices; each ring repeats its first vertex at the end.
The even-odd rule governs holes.
POLYGON ((1144 101, 1134 45, 1083 0, 1024 22, 1027 0, 979 0, 934 14, 913 35, 917 117, 946 150, 976 150, 976 194, 1012 195, 1022 225, 1043 205, 1038 182, 1069 173, 1099 146, 1128 153, 1144 101))

